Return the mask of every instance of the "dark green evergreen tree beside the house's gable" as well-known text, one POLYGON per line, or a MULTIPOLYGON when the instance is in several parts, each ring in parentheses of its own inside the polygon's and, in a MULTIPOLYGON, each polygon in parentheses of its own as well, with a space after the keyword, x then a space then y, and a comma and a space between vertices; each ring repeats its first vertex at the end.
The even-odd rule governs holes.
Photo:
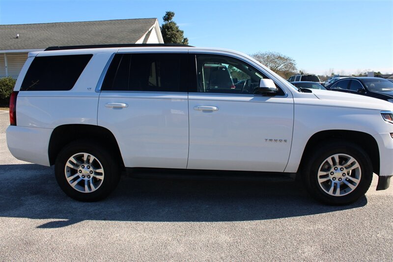
POLYGON ((183 30, 180 30, 179 26, 172 21, 174 16, 175 13, 171 11, 167 11, 163 16, 164 24, 160 28, 164 43, 188 45, 188 38, 184 37, 183 30))

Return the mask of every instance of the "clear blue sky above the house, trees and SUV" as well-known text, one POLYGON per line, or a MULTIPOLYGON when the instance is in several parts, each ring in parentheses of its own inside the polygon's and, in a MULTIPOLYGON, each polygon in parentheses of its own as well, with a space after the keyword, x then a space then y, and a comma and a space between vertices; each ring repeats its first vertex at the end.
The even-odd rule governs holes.
POLYGON ((393 73, 393 0, 0 0, 0 24, 152 17, 162 24, 168 10, 193 46, 279 52, 309 73, 393 73))

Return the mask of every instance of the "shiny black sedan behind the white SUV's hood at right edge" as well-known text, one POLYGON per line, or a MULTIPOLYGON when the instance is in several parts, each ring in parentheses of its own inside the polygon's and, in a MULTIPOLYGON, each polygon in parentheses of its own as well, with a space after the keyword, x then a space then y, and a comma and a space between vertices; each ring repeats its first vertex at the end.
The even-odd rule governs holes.
POLYGON ((330 90, 361 94, 393 103, 393 83, 378 77, 353 77, 338 80, 330 90))

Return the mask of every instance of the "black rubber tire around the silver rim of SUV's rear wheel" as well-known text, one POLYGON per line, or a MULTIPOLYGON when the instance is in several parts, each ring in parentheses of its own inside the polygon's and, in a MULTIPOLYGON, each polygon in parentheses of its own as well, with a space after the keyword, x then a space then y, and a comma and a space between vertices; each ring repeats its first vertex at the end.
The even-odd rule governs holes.
MULTIPOLYGON (((78 201, 93 202, 93 201, 104 199, 114 190, 120 179, 119 161, 114 158, 115 155, 117 154, 113 153, 112 150, 110 150, 109 148, 106 148, 104 146, 99 146, 97 145, 96 142, 93 141, 74 141, 64 146, 61 149, 61 151, 58 153, 55 163, 55 175, 58 185, 64 191, 65 194, 78 201), (71 170, 71 172, 79 173, 78 170, 74 170, 74 169, 68 169, 66 171, 66 164, 69 158, 78 153, 90 154, 91 156, 94 156, 94 158, 98 160, 98 162, 96 162, 96 160, 93 160, 91 162, 91 169, 93 169, 93 165, 96 165, 97 168, 99 168, 100 165, 102 166, 103 173, 95 173, 95 174, 103 174, 103 179, 97 179, 93 177, 93 175, 91 175, 91 180, 90 180, 91 183, 89 184, 90 186, 87 188, 87 191, 88 189, 90 189, 92 192, 87 192, 87 193, 80 192, 70 185, 71 182, 76 182, 76 180, 78 180, 79 178, 82 179, 82 175, 84 173, 78 175, 75 178, 75 180, 71 180, 70 183, 67 181, 66 172, 70 172, 71 170), (94 180, 95 182, 92 182, 93 179, 95 179, 94 180), (93 186, 91 186, 91 184, 94 183, 97 189, 94 188, 93 191, 93 186)), ((90 157, 87 158, 91 160, 90 157)), ((83 156, 81 156, 80 159, 83 159, 83 156)), ((87 166, 85 168, 87 169, 87 166)), ((90 168, 90 166, 88 166, 88 168, 90 168)), ((87 171, 88 170, 86 170, 86 172, 87 171)), ((90 170, 89 172, 93 172, 93 171, 90 170)), ((77 174, 73 173, 73 175, 75 176, 77 174)), ((89 174, 86 173, 84 175, 84 177, 86 177, 86 180, 87 180, 87 175, 89 174)), ((90 181, 86 183, 89 183, 90 181)), ((77 183, 78 184, 77 187, 83 188, 83 183, 84 180, 81 180, 80 182, 77 183)))

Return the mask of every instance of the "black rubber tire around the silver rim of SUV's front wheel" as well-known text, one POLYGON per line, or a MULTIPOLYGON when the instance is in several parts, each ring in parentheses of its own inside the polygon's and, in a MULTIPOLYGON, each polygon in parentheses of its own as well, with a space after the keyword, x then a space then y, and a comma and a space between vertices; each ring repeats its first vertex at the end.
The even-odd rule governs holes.
MULTIPOLYGON (((356 144, 337 140, 321 143, 315 148, 317 149, 309 153, 308 157, 306 156, 306 159, 304 159, 305 164, 302 168, 303 183, 306 186, 307 191, 313 198, 324 204, 344 205, 354 203, 365 195, 371 185, 373 173, 371 160, 365 150, 363 150, 360 146, 357 146, 356 144), (339 177, 341 176, 341 174, 338 174, 340 173, 339 169, 335 171, 333 167, 335 165, 332 166, 325 162, 325 160, 328 159, 330 156, 336 154, 340 155, 340 157, 338 158, 339 161, 342 161, 342 159, 348 159, 345 158, 345 156, 351 156, 355 161, 357 161, 357 163, 359 164, 359 168, 354 169, 354 173, 347 173, 348 175, 346 174, 345 168, 343 168, 344 171, 343 173, 341 173, 343 175, 342 177, 339 177), (325 165, 322 165, 324 163, 325 165), (324 169, 324 167, 327 167, 327 169, 324 169), (329 179, 322 183, 318 181, 318 171, 320 170, 320 168, 322 168, 321 171, 323 172, 326 172, 326 170, 328 170, 329 174, 329 176, 319 176, 319 178, 322 179, 329 179), (346 176, 344 176, 344 174, 346 176), (352 174, 361 174, 361 176, 359 176, 359 182, 352 182, 352 176, 355 177, 355 175, 352 174), (341 182, 338 182, 338 179, 340 179, 341 182), (344 179, 346 181, 344 181, 344 179), (348 187, 347 184, 345 184, 348 181, 351 182, 351 185, 356 185, 356 187, 354 189, 348 187), (334 183, 339 183, 340 187, 338 187, 339 189, 337 189, 336 184, 336 186, 333 186, 333 192, 329 194, 329 192, 326 192, 325 190, 332 189, 332 184, 334 183), (341 190, 343 195, 340 195, 341 190), (349 191, 349 193, 347 193, 347 191, 349 191), (334 193, 336 193, 336 195, 332 195, 334 193)), ((332 160, 332 158, 330 159, 332 163, 336 163, 336 161, 332 160)), ((345 163, 345 161, 341 163, 345 163)), ((337 165, 338 168, 340 168, 340 164, 337 165)), ((345 164, 341 165, 343 167, 345 164)))

